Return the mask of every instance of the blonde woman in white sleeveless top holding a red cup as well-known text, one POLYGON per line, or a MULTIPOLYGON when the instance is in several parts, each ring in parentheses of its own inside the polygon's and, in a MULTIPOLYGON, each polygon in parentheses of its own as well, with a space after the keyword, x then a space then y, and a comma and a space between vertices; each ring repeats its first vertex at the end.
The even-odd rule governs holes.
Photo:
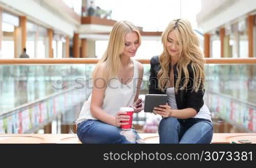
POLYGON ((141 37, 138 28, 128 21, 117 22, 110 34, 108 48, 93 71, 93 91, 84 103, 77 119, 77 135, 84 144, 143 143, 138 133, 122 130, 129 121, 123 106, 133 106, 135 113, 143 109, 138 105, 138 89, 143 78, 143 66, 133 60, 141 37))

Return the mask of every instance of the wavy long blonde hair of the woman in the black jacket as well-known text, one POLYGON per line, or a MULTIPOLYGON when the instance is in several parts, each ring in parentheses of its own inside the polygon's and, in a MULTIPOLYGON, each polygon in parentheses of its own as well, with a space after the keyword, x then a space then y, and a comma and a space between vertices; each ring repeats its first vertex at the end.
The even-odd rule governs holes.
POLYGON ((171 63, 171 57, 168 54, 166 43, 168 34, 174 31, 177 35, 178 42, 180 44, 180 53, 176 66, 176 70, 178 72, 178 78, 175 85, 175 93, 178 92, 178 89, 184 90, 187 87, 189 80, 184 80, 183 86, 181 84, 181 75, 182 72, 185 75, 185 79, 188 79, 189 72, 187 69, 188 64, 191 63, 191 68, 194 74, 194 83, 193 89, 191 91, 198 92, 199 89, 204 89, 204 54, 200 50, 200 43, 197 35, 193 31, 191 24, 186 19, 174 19, 172 20, 165 31, 162 34, 162 44, 163 44, 163 52, 159 57, 159 62, 161 64, 161 69, 158 72, 158 84, 159 89, 164 91, 165 86, 167 85, 167 78, 169 78, 169 65, 171 63))

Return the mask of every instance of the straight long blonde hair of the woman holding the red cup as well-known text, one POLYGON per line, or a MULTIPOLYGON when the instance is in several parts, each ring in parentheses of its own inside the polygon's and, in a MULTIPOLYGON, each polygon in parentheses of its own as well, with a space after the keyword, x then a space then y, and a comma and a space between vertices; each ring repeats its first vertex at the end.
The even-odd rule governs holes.
POLYGON ((139 45, 141 44, 141 36, 138 27, 129 21, 118 21, 113 26, 110 33, 110 40, 103 57, 99 60, 93 71, 93 78, 100 67, 104 63, 104 78, 106 81, 110 77, 116 77, 118 72, 122 71, 120 55, 124 50, 124 36, 126 33, 136 32, 139 37, 139 45))

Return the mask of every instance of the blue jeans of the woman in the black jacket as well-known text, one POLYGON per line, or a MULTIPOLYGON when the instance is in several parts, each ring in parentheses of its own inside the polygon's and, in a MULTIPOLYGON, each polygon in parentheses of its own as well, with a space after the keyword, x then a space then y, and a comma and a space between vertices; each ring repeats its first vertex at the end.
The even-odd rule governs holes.
POLYGON ((210 121, 163 118, 158 128, 160 144, 209 144, 213 135, 210 121))

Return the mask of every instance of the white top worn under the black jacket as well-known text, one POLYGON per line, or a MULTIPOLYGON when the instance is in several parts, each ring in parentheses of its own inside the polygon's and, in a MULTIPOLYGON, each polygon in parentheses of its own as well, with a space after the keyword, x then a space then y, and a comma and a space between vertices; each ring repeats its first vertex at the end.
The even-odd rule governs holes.
MULTIPOLYGON (((175 91, 174 87, 173 88, 167 88, 166 89, 166 95, 168 96, 168 105, 172 107, 173 109, 178 109, 177 103, 176 103, 176 98, 175 98, 175 91)), ((209 108, 204 105, 200 108, 198 114, 193 117, 193 118, 200 118, 200 119, 207 119, 211 121, 211 114, 209 108)), ((211 121, 212 122, 212 121, 211 121)))

